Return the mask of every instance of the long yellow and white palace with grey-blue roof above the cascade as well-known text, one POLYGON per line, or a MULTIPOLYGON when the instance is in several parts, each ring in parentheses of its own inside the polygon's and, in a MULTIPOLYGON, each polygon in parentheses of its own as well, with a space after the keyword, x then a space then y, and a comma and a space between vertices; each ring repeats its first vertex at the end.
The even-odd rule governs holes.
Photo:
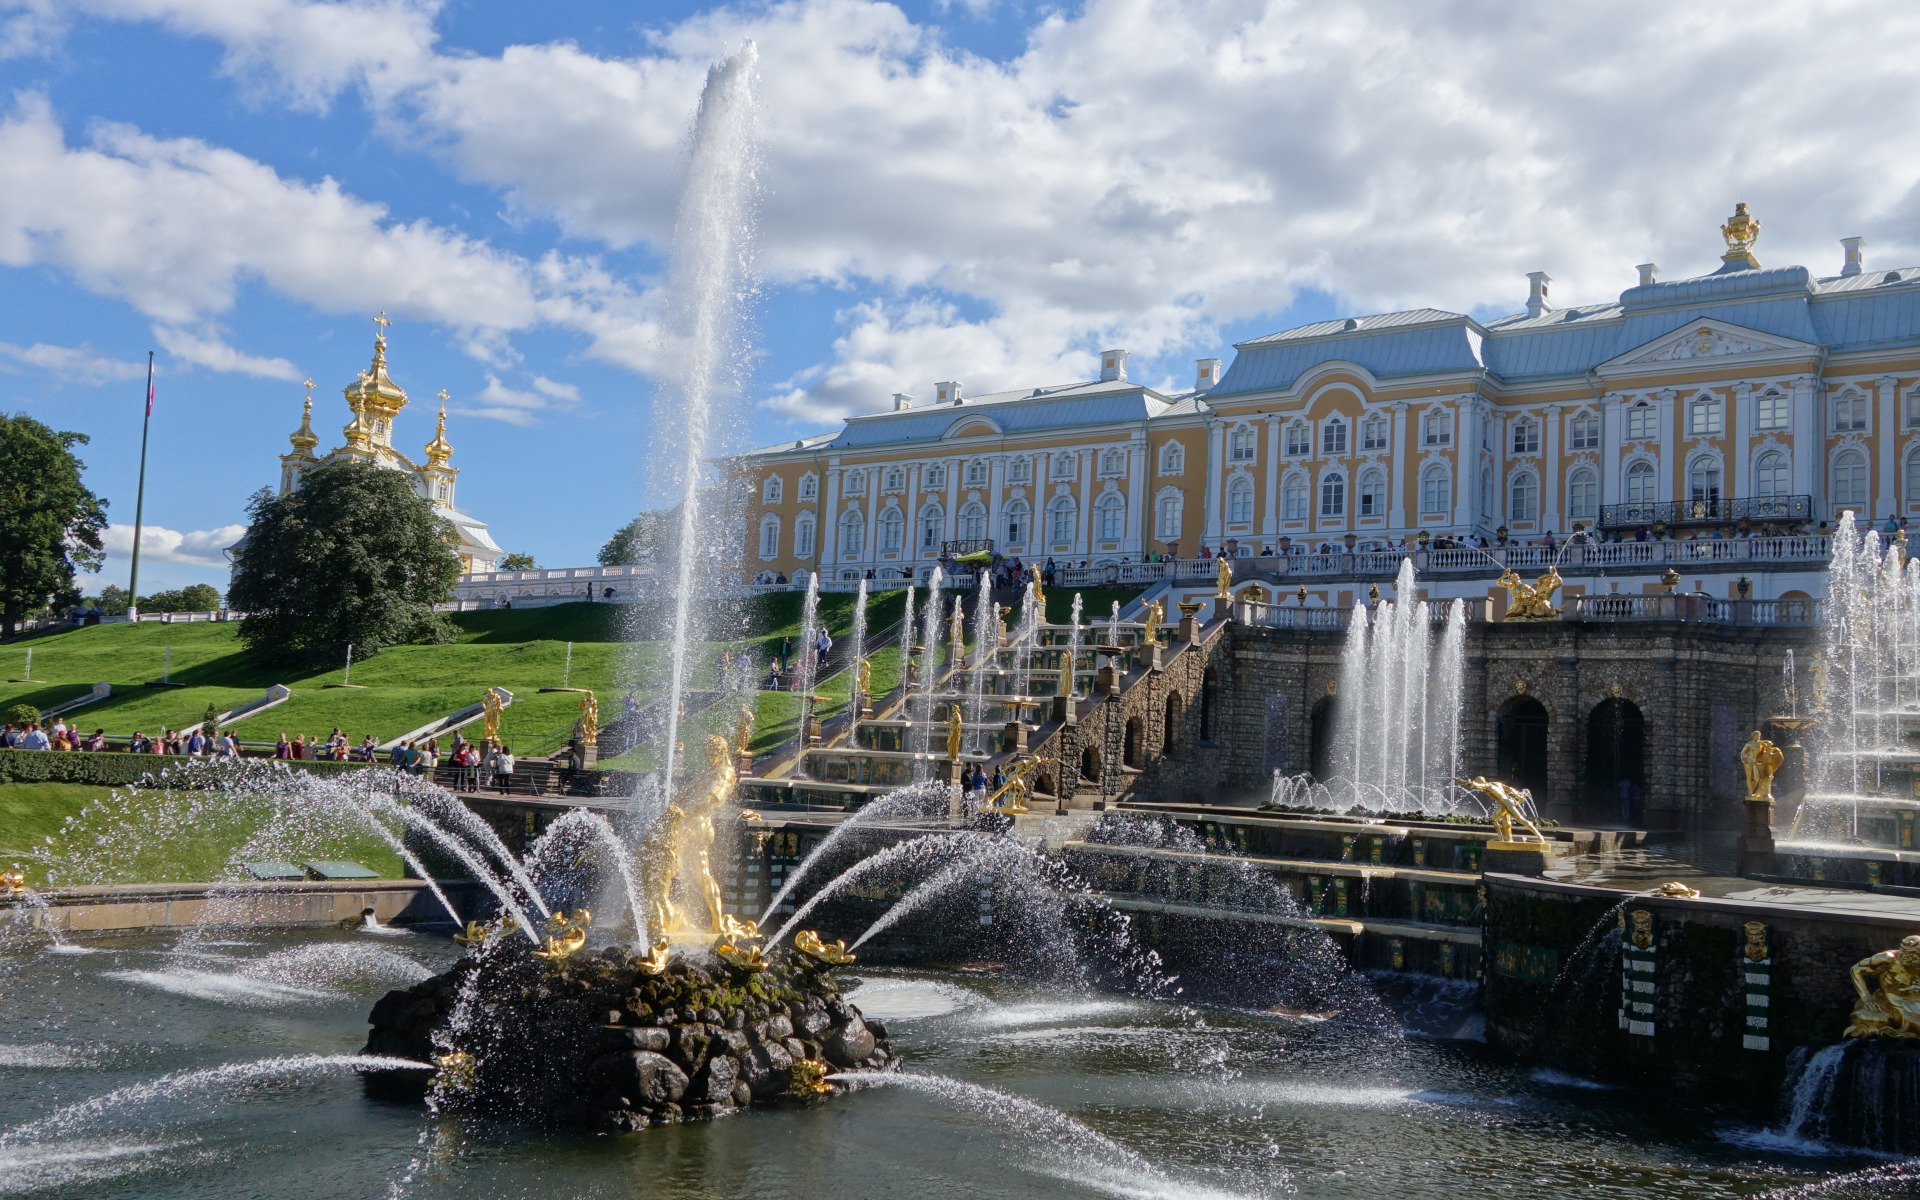
MULTIPOLYGON (((1319 321, 1200 359, 1194 390, 1127 378, 966 396, 728 461, 743 574, 924 578, 993 549, 1062 564, 1386 549, 1549 530, 1818 532, 1920 513, 1920 269, 1763 267, 1738 205, 1720 267, 1476 321, 1319 321)), ((349 390, 351 396, 351 390, 349 390)))

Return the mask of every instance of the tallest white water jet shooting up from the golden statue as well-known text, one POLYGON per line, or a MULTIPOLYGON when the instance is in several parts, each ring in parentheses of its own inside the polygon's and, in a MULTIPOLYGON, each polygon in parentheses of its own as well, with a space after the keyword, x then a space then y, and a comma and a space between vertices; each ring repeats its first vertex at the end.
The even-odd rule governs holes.
POLYGON ((670 453, 651 492, 680 505, 680 540, 672 563, 672 624, 668 630, 664 741, 659 795, 674 795, 687 655, 701 639, 695 597, 710 595, 728 570, 730 541, 708 530, 722 513, 703 513, 705 463, 714 434, 714 403, 735 392, 741 371, 739 328, 753 276, 758 152, 755 146, 753 42, 707 73, 707 90, 693 119, 687 182, 674 217, 674 246, 662 313, 662 342, 672 371, 660 374, 653 403, 655 434, 670 453), (678 438, 674 438, 678 434, 678 438), (678 444, 676 444, 678 442, 678 444))

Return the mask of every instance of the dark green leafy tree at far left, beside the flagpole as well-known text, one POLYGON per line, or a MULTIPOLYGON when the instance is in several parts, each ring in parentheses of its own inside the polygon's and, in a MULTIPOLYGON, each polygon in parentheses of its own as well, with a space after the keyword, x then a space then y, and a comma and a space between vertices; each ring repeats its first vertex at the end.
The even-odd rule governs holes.
POLYGON ((0 634, 48 605, 77 605, 75 570, 98 570, 106 559, 108 501, 81 482, 75 445, 86 445, 86 434, 0 415, 0 634))

